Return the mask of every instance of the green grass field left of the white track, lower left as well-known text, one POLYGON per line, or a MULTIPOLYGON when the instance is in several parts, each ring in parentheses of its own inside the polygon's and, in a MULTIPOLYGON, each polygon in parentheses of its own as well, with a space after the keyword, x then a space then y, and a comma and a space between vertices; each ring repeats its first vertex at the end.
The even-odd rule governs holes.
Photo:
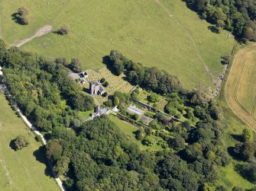
POLYGON ((3 94, 0 94, 0 190, 60 190, 46 171, 44 153, 34 152, 41 146, 34 134, 11 110, 3 94), (9 146, 17 135, 28 138, 30 145, 21 151, 9 146), (40 160, 40 161, 37 161, 40 160))

